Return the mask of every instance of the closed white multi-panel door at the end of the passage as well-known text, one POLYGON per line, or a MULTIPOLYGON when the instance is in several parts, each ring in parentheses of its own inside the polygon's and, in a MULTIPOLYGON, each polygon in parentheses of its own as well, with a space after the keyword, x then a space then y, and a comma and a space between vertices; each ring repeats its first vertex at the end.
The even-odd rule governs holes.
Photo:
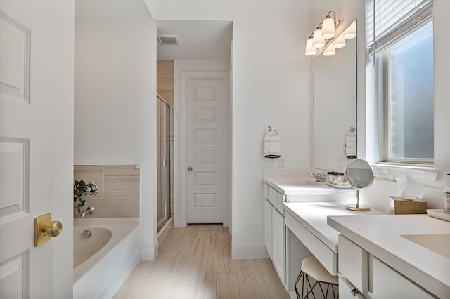
POLYGON ((186 222, 224 223, 231 173, 228 72, 191 72, 182 78, 186 83, 186 222))

